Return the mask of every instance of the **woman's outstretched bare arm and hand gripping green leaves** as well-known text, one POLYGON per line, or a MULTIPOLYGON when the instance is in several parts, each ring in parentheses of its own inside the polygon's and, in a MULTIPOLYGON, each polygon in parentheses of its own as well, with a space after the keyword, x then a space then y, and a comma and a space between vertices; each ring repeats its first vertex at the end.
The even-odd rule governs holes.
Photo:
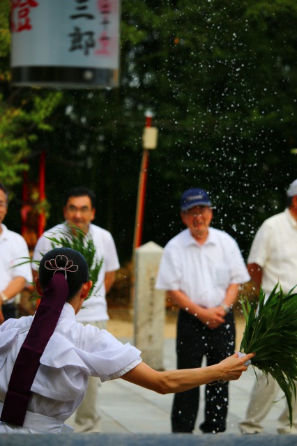
POLYGON ((243 371, 248 369, 245 366, 245 362, 252 357, 254 357, 254 353, 241 358, 238 358, 238 354, 235 353, 219 364, 209 367, 169 371, 156 371, 144 362, 141 362, 134 369, 123 375, 122 378, 160 394, 178 393, 215 380, 236 380, 243 371))

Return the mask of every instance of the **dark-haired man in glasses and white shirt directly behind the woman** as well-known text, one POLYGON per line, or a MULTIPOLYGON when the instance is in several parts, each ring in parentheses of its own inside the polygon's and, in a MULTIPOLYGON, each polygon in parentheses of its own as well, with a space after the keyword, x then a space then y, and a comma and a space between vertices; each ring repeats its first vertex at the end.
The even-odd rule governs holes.
MULTIPOLYGON (((96 197, 93 191, 87 187, 74 187, 66 192, 63 206, 63 215, 66 222, 58 224, 43 233, 34 249, 33 260, 39 261, 46 252, 52 249, 53 243, 48 238, 56 237, 59 239, 59 235, 60 238, 64 238, 70 230, 75 234, 75 229, 70 229, 68 225, 80 229, 85 234, 86 243, 91 238, 96 247, 98 261, 102 260, 102 266, 91 296, 84 302, 84 307, 77 314, 77 321, 84 324, 91 323, 91 325, 104 329, 109 319, 105 294, 114 283, 116 270, 119 269, 119 259, 112 234, 100 228, 100 226, 92 224, 95 214, 96 197)), ((59 245, 54 247, 59 247, 59 245)), ((33 272, 33 274, 36 276, 38 272, 33 272)), ((86 396, 75 415, 76 431, 100 430, 100 415, 96 409, 97 395, 98 378, 91 377, 86 396)))

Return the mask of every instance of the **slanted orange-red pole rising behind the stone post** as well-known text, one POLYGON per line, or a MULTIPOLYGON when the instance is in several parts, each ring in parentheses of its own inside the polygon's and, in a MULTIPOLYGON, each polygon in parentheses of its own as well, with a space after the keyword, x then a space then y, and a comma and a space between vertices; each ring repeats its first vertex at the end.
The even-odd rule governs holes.
MULTIPOLYGON (((151 127, 151 115, 146 115, 146 127, 151 127)), ((142 244, 142 231, 144 226, 144 204, 146 201, 146 183, 148 176, 148 149, 144 148, 142 153, 142 164, 140 167, 137 208, 135 219, 135 235, 133 243, 133 253, 142 244)))

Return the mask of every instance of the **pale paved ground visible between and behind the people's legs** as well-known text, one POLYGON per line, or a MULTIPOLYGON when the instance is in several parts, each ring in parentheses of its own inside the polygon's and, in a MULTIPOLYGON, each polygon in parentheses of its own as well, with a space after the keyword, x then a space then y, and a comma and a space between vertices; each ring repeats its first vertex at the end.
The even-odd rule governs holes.
MULTIPOLYGON (((108 323, 108 330, 123 342, 132 344, 132 322, 114 316, 108 323)), ((237 346, 241 341, 243 319, 237 323, 237 346)), ((165 326, 164 367, 176 367, 175 321, 171 318, 165 326)), ((227 433, 239 433, 238 421, 243 419, 248 405, 250 389, 254 383, 254 372, 250 368, 243 377, 230 383, 229 416, 227 433)), ((276 434, 276 420, 284 408, 284 399, 275 402, 264 421, 266 433, 276 434)), ((170 433, 170 410, 172 395, 160 395, 124 380, 103 383, 99 390, 98 408, 102 415, 101 431, 105 433, 170 433)), ((195 434, 200 435, 199 424, 203 421, 204 386, 201 388, 201 405, 195 434)))

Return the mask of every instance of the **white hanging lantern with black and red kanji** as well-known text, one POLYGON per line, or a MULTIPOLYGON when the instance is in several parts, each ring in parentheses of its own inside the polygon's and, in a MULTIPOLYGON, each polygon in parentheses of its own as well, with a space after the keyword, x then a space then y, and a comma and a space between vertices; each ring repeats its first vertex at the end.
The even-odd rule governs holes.
POLYGON ((120 1, 11 0, 12 83, 117 86, 120 1))

